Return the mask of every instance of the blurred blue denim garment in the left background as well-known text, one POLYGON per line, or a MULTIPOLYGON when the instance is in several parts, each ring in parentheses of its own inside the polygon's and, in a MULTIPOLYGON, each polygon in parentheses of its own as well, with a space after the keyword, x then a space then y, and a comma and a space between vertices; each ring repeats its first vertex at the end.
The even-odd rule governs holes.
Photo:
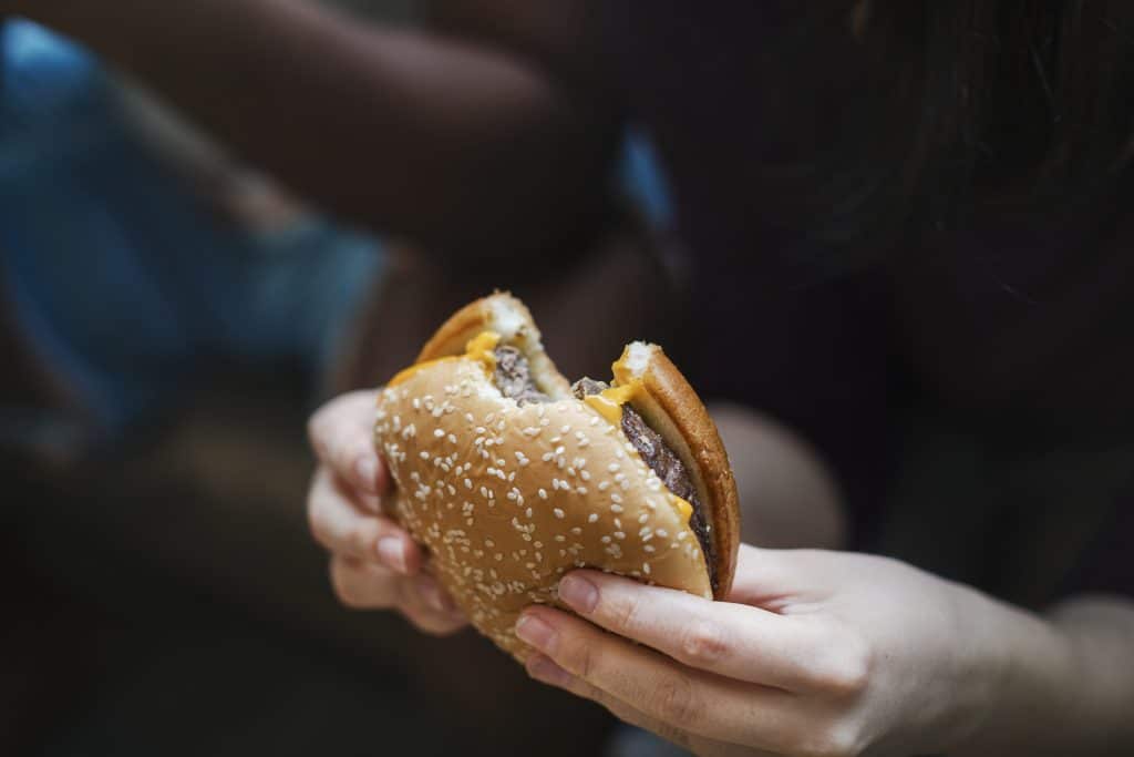
POLYGON ((218 219, 132 134, 82 49, 31 23, 0 34, 0 266, 37 356, 113 436, 205 356, 318 370, 382 263, 310 217, 259 234, 218 219))

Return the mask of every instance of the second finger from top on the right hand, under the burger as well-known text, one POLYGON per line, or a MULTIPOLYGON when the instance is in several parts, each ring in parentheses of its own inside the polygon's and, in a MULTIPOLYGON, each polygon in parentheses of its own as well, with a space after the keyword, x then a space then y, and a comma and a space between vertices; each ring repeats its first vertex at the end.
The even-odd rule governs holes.
POLYGON ((799 720, 794 695, 686 667, 549 607, 526 609, 516 633, 572 676, 706 739, 775 751, 799 720))

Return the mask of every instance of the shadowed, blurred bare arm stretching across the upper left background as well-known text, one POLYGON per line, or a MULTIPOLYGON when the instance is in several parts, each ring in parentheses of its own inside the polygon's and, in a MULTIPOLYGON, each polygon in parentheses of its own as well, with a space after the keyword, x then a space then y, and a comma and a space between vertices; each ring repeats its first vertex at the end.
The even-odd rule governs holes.
POLYGON ((383 232, 503 255, 569 244, 602 211, 616 118, 533 56, 304 0, 0 9, 85 42, 297 193, 383 232))

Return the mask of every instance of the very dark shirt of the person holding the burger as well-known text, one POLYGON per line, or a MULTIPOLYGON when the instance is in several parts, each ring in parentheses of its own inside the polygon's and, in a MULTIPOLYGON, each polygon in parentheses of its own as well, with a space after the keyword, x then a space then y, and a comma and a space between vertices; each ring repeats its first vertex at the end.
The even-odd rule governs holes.
MULTIPOLYGON (((771 412, 815 444, 860 544, 886 520, 912 407, 975 435, 1124 437, 1134 221, 1119 190, 1058 224, 984 211, 949 230, 914 225, 873 264, 844 269, 858 256, 829 230, 838 203, 793 209, 782 187, 806 187, 785 170, 793 159, 854 150, 844 126, 870 84, 849 24, 806 27, 806 3, 598 5, 609 65, 657 143, 693 261, 682 364, 703 394, 771 412)), ((813 196, 829 178, 814 176, 813 196)), ((1134 592, 1128 489, 1099 493, 1120 528, 1085 550, 1070 589, 1134 592)))

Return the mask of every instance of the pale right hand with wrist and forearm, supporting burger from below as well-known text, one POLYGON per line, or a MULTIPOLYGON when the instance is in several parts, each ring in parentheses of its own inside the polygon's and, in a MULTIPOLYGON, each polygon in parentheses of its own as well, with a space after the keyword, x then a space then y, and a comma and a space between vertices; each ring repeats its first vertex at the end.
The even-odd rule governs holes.
POLYGON ((517 624, 532 675, 702 755, 1134 752, 1126 599, 1040 617, 891 560, 752 547, 727 603, 593 571, 559 598, 578 616, 517 624))

